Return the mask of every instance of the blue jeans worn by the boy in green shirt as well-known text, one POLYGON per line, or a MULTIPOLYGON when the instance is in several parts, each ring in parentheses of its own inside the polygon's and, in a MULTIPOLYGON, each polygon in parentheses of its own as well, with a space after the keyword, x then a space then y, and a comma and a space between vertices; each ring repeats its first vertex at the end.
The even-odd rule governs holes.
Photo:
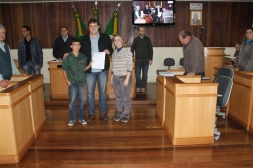
POLYGON ((84 84, 74 84, 68 87, 69 92, 69 114, 70 120, 76 120, 76 107, 75 107, 75 100, 77 98, 78 101, 78 120, 84 119, 84 84))

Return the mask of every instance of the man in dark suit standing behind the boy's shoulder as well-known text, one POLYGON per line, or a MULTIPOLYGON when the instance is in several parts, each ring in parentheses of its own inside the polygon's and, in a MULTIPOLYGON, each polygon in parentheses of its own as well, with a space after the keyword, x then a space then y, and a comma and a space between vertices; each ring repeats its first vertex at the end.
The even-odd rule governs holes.
POLYGON ((53 56, 61 60, 64 56, 68 55, 71 51, 70 44, 74 37, 68 34, 66 26, 61 27, 61 35, 54 41, 53 56))

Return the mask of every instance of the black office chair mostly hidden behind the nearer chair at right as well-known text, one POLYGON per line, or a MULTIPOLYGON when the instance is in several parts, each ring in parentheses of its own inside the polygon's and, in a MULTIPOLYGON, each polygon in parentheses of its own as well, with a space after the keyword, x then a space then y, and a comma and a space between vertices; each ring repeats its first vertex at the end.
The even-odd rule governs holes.
MULTIPOLYGON (((218 78, 219 76, 226 76, 233 81, 234 71, 231 68, 225 68, 225 67, 220 68, 216 74, 216 77, 214 78, 214 82, 215 80, 217 80, 216 78, 218 78)), ((222 116, 222 118, 226 117, 226 114, 224 112, 221 112, 219 107, 217 107, 216 109, 216 114, 219 116, 222 116)))

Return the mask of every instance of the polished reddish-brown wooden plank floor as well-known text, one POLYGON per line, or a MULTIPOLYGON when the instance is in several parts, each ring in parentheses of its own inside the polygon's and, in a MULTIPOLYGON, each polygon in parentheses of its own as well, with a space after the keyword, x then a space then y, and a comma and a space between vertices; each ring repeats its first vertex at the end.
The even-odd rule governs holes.
POLYGON ((67 125, 67 105, 47 105, 47 124, 23 159, 0 168, 253 167, 253 136, 230 119, 218 117, 221 137, 214 144, 173 146, 156 116, 156 105, 143 103, 156 96, 155 87, 149 84, 148 96, 133 100, 128 123, 112 120, 112 102, 109 121, 99 119, 96 107, 94 121, 72 127, 67 125))

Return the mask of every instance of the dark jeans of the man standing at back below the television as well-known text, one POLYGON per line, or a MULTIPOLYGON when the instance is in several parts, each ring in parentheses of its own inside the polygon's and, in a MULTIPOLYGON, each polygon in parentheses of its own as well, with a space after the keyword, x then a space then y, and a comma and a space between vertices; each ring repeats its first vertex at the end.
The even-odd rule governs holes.
POLYGON ((136 88, 145 88, 148 81, 148 58, 136 58, 135 61, 135 76, 136 76, 136 88), (141 75, 142 72, 142 75, 141 75))

